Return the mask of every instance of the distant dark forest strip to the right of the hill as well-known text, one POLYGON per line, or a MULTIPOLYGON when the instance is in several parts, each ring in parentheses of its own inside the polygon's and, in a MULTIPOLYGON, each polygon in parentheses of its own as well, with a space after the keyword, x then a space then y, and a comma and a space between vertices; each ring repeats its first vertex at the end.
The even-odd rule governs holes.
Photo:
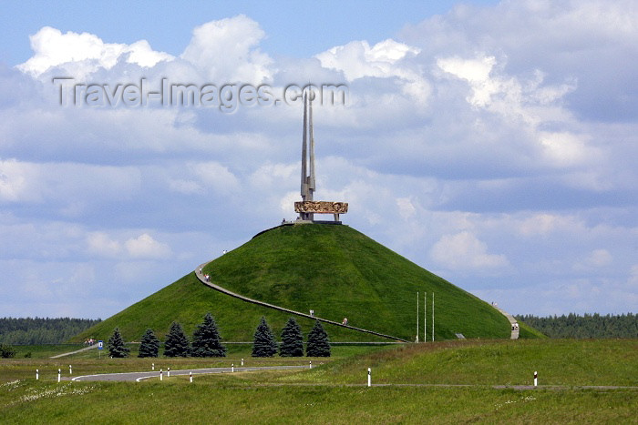
POLYGON ((638 315, 633 313, 602 316, 598 313, 580 316, 516 316, 550 338, 638 338, 638 315))

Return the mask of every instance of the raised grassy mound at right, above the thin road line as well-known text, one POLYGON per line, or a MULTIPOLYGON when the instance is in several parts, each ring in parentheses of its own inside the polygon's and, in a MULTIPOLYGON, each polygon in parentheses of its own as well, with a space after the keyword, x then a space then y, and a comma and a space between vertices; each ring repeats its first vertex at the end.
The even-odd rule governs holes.
POLYGON ((621 385, 638 387, 636 339, 465 340, 409 344, 283 378, 360 383, 367 368, 379 384, 621 385))

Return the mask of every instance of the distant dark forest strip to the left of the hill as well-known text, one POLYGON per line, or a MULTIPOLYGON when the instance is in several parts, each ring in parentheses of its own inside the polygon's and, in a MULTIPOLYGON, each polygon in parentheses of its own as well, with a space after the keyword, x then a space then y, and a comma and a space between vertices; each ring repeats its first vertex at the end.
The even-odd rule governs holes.
POLYGON ((15 345, 60 344, 102 319, 2 318, 0 343, 15 345))

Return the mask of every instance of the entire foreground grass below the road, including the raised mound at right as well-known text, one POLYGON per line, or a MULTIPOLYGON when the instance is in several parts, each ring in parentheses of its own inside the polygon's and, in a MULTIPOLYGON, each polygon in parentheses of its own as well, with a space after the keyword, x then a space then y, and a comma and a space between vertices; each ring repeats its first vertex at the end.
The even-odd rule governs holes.
MULTIPOLYGON (((637 386, 637 344, 614 339, 419 344, 375 349, 315 369, 196 376, 193 383, 188 377, 60 384, 19 379, 0 385, 0 421, 635 423, 638 389, 576 387, 637 386), (374 384, 390 385, 366 388, 367 367, 373 368, 374 384), (539 389, 490 387, 530 384, 533 369, 539 370, 539 389), (427 383, 475 385, 423 385, 427 383), (547 387, 552 385, 565 388, 547 387)), ((139 366, 139 361, 109 362, 107 369, 127 362, 139 366)), ((193 359, 184 359, 182 366, 189 361, 193 359)))

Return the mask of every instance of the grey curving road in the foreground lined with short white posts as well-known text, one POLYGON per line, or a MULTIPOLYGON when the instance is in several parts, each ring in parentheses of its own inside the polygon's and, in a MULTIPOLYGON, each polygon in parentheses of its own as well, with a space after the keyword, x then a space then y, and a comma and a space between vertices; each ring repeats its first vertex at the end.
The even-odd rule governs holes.
MULTIPOLYGON (((250 372, 254 370, 286 370, 286 369, 309 369, 309 366, 255 366, 253 368, 207 368, 207 369, 181 369, 170 370, 170 377, 168 371, 163 371, 162 379, 170 379, 173 376, 184 376, 192 373, 193 375, 204 375, 211 373, 232 373, 236 372, 250 372)), ((139 382, 143 379, 157 378, 160 379, 160 371, 147 371, 147 372, 122 372, 122 373, 98 373, 96 375, 83 375, 77 376, 71 380, 77 381, 89 381, 89 380, 110 380, 110 381, 136 381, 139 382)))

